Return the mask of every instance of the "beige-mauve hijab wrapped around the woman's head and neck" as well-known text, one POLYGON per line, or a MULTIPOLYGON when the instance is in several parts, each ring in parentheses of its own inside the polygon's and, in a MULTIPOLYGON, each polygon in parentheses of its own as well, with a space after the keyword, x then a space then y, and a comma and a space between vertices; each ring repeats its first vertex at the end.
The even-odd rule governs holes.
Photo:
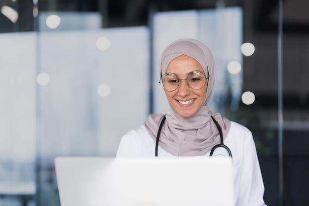
MULTIPOLYGON (((211 51, 203 43, 194 39, 181 39, 169 44, 161 55, 160 74, 165 74, 168 64, 180 55, 190 56, 202 66, 208 76, 207 94, 203 105, 192 117, 184 118, 173 108, 166 111, 166 121, 161 130, 159 146, 174 156, 201 156, 220 143, 219 130, 211 116, 221 126, 224 139, 231 122, 218 112, 210 111, 207 105, 215 82, 216 70, 211 51)), ((154 141, 162 118, 162 114, 151 114, 145 122, 154 141)))

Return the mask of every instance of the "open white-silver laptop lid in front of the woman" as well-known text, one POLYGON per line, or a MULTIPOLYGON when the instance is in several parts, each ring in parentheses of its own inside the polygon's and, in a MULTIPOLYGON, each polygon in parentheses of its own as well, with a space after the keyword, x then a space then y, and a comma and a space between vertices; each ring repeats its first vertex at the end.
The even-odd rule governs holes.
POLYGON ((57 157, 61 206, 232 206, 232 159, 57 157))

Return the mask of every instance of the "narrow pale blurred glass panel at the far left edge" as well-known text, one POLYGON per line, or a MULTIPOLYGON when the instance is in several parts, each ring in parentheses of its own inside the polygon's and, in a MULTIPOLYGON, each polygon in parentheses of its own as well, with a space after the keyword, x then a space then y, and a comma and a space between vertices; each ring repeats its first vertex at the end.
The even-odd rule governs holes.
POLYGON ((14 205, 36 192, 36 34, 3 33, 0 45, 0 205, 14 205))

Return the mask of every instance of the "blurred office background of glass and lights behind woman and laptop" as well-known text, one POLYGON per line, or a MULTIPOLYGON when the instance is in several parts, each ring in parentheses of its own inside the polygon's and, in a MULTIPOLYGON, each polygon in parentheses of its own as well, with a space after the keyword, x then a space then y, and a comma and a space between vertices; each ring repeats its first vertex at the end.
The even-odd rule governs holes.
POLYGON ((164 113, 157 64, 179 38, 212 50, 210 106, 252 130, 268 206, 309 205, 309 1, 0 0, 0 9, 0 206, 59 206, 55 157, 113 157, 125 132, 164 113))

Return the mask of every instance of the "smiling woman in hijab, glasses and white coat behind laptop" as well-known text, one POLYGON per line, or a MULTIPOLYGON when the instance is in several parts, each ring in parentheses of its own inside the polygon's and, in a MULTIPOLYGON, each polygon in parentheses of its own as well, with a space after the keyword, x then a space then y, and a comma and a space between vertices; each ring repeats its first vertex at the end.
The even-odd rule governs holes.
POLYGON ((193 39, 172 42, 161 55, 160 72, 160 84, 171 108, 166 115, 151 114, 145 124, 125 134, 117 157, 232 154, 235 205, 265 206, 252 133, 207 106, 216 73, 208 47, 193 39), (223 147, 211 151, 221 142, 220 130, 231 154, 223 147))

